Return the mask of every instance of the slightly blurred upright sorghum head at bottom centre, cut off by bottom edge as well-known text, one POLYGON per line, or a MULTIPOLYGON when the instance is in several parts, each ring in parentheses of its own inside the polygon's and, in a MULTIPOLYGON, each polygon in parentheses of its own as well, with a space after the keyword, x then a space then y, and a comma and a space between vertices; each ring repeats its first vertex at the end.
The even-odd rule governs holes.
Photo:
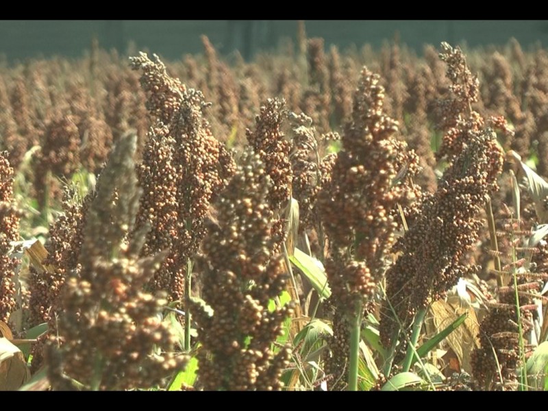
POLYGON ((273 253, 272 188, 264 162, 246 151, 216 201, 217 221, 208 221, 202 293, 213 313, 199 304, 193 310, 203 345, 198 375, 206 390, 282 388, 289 351, 275 353, 272 343, 292 309, 269 310, 286 284, 282 257, 273 253))

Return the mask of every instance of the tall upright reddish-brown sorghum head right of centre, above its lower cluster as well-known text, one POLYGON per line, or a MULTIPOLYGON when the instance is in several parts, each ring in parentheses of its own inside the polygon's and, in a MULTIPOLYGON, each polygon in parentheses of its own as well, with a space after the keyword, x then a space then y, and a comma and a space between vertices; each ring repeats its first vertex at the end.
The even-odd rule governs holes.
POLYGON ((391 211, 407 196, 407 187, 398 184, 397 177, 417 171, 416 155, 395 138, 397 122, 384 114, 383 100, 379 76, 364 69, 332 180, 319 194, 321 216, 334 247, 356 247, 356 258, 365 260, 375 275, 395 240, 397 222, 391 211))

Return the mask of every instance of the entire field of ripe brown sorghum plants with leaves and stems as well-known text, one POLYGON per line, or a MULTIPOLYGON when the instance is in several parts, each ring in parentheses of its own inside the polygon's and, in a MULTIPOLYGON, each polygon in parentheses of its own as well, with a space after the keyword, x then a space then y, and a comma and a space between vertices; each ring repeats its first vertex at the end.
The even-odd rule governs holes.
POLYGON ((548 390, 548 52, 0 66, 0 390, 548 390))

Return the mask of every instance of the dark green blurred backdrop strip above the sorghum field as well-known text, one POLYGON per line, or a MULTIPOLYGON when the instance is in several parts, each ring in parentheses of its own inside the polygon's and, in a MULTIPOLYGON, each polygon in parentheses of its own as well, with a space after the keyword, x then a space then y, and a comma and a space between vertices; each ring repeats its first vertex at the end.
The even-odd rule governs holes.
MULTIPOLYGON (((513 36, 525 47, 535 42, 548 44, 548 21, 306 21, 308 37, 325 38, 327 47, 336 44, 343 49, 351 44, 361 47, 369 42, 374 47, 394 38, 421 51, 424 44, 452 44, 463 40, 469 46, 503 45, 513 36)), ((259 49, 271 49, 282 37, 295 39, 297 21, 228 20, 61 20, 0 21, 0 54, 11 61, 38 56, 66 55, 79 57, 90 48, 95 36, 101 47, 116 47, 126 52, 129 41, 136 49, 147 49, 165 58, 180 58, 185 53, 202 51, 201 34, 206 34, 223 53, 240 49, 248 58, 259 49), (247 39, 247 40, 246 40, 247 39)))

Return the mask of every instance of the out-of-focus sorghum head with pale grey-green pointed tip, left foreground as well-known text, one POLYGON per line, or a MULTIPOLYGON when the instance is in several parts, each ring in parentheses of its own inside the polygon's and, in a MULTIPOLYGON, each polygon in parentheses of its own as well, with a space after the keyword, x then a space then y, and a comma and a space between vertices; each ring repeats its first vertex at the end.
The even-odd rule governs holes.
POLYGON ((155 346, 169 350, 175 344, 158 318, 166 300, 142 291, 166 252, 139 258, 139 247, 125 240, 140 197, 135 150, 135 136, 122 137, 99 177, 84 229, 82 268, 66 280, 62 295, 60 339, 51 336, 45 350, 54 389, 67 388, 67 375, 87 389, 149 387, 186 361, 169 351, 153 353, 155 346))

